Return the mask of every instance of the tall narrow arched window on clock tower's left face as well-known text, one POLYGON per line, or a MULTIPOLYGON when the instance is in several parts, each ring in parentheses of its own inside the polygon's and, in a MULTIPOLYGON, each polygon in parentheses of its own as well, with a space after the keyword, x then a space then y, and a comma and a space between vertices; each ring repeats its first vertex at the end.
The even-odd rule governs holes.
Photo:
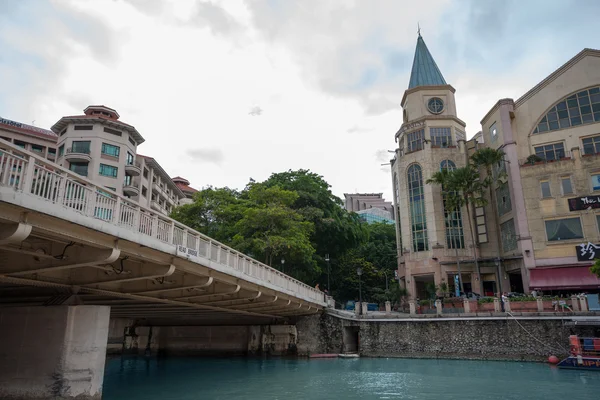
POLYGON ((423 172, 418 164, 408 167, 408 200, 413 251, 429 250, 427 239, 427 219, 425 215, 425 195, 423 192, 423 172))

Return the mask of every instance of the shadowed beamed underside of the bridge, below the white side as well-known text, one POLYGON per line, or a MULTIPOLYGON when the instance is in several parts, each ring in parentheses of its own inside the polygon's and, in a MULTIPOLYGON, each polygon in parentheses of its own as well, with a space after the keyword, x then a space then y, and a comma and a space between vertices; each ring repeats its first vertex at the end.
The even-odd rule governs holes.
POLYGON ((283 322, 321 306, 174 254, 0 203, 0 307, 108 305, 177 325, 283 322))

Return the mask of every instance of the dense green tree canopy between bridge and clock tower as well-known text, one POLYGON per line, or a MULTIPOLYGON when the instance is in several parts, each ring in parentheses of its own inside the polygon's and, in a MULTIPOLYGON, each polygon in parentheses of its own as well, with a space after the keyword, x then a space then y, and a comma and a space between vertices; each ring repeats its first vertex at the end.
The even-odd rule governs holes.
POLYGON ((319 283, 338 301, 358 298, 358 267, 363 300, 377 300, 386 276, 388 286, 398 286, 394 225, 363 222, 342 207, 322 176, 308 170, 251 180, 241 191, 204 188, 171 217, 303 282, 319 283))

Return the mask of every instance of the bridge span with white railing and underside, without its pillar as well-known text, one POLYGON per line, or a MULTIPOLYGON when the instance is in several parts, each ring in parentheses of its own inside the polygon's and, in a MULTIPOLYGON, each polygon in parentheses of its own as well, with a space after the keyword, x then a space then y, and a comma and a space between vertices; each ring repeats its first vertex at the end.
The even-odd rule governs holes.
POLYGON ((0 306, 110 305, 111 317, 271 323, 323 293, 0 139, 0 306))

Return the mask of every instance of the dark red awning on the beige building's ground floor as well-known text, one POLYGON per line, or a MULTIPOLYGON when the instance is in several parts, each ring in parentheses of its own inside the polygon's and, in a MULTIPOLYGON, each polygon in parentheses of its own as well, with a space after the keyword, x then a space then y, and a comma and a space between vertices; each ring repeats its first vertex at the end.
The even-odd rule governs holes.
POLYGON ((529 287, 540 290, 598 289, 600 279, 590 267, 534 268, 529 271, 529 287))

